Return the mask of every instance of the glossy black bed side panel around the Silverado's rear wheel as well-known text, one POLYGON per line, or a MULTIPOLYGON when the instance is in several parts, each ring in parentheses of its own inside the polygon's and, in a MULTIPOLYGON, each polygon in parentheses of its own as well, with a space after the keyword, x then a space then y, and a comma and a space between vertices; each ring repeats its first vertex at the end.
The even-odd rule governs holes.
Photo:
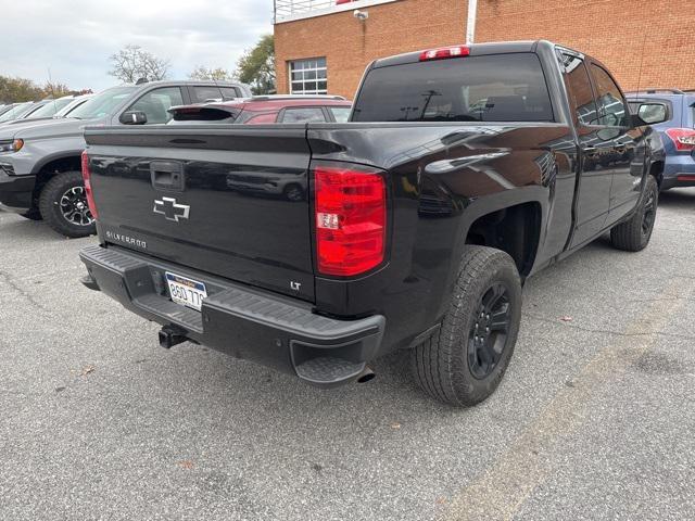
POLYGON ((359 280, 316 279, 319 309, 386 315, 384 345, 407 346, 440 320, 466 236, 479 217, 517 204, 538 204, 542 225, 532 270, 567 243, 577 161, 567 125, 311 125, 308 142, 314 161, 388 170, 388 262, 359 280))

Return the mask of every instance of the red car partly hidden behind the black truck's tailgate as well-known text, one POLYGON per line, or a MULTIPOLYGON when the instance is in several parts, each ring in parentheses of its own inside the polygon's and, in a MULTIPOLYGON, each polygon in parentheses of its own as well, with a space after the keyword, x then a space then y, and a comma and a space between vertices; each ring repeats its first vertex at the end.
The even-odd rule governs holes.
POLYGON ((173 106, 170 124, 345 123, 352 102, 339 96, 258 96, 202 105, 173 106))

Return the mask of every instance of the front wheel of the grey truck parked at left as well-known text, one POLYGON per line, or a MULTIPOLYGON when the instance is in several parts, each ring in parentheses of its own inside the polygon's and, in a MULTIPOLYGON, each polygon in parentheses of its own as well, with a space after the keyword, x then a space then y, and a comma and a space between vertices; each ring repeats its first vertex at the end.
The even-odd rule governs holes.
POLYGON ((79 171, 56 174, 48 181, 41 190, 39 208, 43 220, 65 237, 87 237, 97 232, 79 171))

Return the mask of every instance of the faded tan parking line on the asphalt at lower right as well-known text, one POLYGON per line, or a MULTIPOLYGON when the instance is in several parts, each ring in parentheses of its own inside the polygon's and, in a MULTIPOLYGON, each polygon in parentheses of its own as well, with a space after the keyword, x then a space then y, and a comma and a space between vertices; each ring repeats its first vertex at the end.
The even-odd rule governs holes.
POLYGON ((615 343, 607 345, 561 389, 511 446, 477 480, 462 490, 445 514, 451 521, 510 520, 547 480, 563 440, 590 417, 591 401, 647 353, 670 317, 688 302, 692 288, 671 281, 615 343), (683 295, 683 290, 687 291, 683 295))

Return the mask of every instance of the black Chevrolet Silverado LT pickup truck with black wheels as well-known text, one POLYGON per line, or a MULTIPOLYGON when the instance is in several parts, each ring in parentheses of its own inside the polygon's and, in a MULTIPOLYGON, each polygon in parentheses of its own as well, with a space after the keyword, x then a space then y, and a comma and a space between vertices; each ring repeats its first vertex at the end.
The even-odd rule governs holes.
POLYGON ((529 276, 607 230, 647 245, 654 139, 599 62, 547 41, 378 60, 346 124, 88 128, 83 283, 165 347, 326 386, 408 348, 425 391, 473 405, 508 367, 529 276), (302 198, 264 189, 289 180, 302 198))

